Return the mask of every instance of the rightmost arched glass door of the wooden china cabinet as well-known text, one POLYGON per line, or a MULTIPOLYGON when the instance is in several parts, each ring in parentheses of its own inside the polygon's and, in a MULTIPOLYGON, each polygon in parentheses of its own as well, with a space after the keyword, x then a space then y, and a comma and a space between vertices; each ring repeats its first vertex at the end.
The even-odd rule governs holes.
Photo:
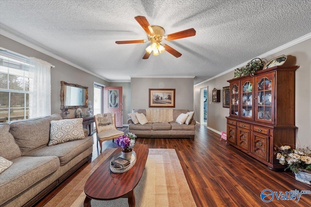
POLYGON ((258 76, 255 79, 257 87, 256 121, 273 124, 274 122, 274 73, 258 76))

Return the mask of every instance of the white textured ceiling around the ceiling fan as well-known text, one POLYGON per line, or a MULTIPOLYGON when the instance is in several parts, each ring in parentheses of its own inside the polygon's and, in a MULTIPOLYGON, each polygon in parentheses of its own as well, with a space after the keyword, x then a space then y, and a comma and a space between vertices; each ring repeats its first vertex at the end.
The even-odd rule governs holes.
POLYGON ((311 33, 310 0, 0 0, 0 29, 108 81, 130 77, 218 75, 311 33), (149 45, 134 19, 146 16, 166 34, 196 35, 166 42, 168 52, 143 60, 149 45))

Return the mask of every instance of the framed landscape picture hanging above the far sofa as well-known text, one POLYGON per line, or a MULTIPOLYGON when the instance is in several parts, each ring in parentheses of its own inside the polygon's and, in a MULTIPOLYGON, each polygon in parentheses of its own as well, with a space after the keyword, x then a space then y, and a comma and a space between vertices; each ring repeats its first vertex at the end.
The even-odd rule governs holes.
POLYGON ((175 108, 175 89, 149 89, 149 108, 175 108))

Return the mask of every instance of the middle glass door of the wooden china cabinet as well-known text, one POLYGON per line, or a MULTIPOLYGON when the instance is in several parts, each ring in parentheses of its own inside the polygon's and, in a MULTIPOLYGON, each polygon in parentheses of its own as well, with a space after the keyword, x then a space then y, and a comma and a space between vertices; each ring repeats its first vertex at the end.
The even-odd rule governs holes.
POLYGON ((241 80, 241 118, 253 119, 253 80, 241 80))

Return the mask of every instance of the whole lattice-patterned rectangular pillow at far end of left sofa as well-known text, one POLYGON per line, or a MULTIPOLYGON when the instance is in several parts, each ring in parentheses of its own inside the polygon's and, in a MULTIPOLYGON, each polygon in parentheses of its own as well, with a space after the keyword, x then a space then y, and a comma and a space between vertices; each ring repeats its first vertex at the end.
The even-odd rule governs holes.
POLYGON ((51 121, 49 146, 84 139, 83 118, 51 121))

